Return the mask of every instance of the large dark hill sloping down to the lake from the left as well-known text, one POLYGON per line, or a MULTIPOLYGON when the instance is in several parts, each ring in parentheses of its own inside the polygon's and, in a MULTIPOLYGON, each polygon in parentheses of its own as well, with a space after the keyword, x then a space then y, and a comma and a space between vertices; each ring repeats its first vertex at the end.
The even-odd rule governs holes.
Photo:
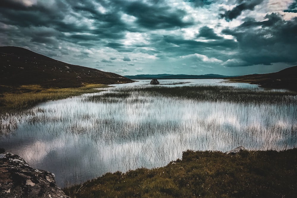
POLYGON ((71 65, 22 47, 0 47, 0 85, 38 84, 43 87, 80 87, 86 83, 134 82, 126 77, 71 65))

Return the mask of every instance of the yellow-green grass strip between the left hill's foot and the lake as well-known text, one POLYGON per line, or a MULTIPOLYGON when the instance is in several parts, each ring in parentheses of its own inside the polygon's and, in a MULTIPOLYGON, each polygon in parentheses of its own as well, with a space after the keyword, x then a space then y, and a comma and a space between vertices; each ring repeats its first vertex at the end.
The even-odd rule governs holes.
MULTIPOLYGON (((1 86, 2 89, 4 86, 1 86)), ((22 85, 20 87, 6 87, 0 95, 0 114, 23 111, 38 103, 50 100, 65 99, 84 93, 95 93, 107 85, 89 84, 78 88, 42 88, 40 85, 22 85)))

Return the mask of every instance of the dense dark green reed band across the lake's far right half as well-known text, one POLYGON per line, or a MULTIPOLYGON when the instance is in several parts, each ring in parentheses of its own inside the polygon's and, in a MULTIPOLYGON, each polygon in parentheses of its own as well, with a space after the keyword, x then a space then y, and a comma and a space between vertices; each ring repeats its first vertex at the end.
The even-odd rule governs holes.
MULTIPOLYGON (((123 88, 119 91, 127 92, 123 88)), ((131 91, 131 90, 129 90, 131 91)), ((239 103, 285 103, 297 104, 297 92, 279 91, 255 87, 238 88, 233 86, 155 86, 137 87, 132 91, 143 91, 146 93, 157 94, 167 97, 178 97, 182 99, 193 99, 196 101, 211 102, 239 102, 239 103)))

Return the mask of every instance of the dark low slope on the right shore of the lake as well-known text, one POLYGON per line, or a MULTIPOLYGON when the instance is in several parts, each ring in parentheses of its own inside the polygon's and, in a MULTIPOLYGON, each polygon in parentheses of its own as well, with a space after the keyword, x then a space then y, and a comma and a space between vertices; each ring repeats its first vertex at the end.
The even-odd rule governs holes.
POLYGON ((266 88, 286 88, 297 91, 297 66, 269 74, 252 74, 227 79, 235 82, 257 84, 266 88))

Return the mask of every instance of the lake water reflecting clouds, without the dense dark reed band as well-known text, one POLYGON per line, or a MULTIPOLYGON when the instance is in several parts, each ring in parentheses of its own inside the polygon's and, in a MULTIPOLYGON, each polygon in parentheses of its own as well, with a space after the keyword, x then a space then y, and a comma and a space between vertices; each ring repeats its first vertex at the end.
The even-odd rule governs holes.
POLYGON ((296 103, 197 101, 135 89, 195 85, 263 89, 257 85, 215 79, 149 82, 39 104, 21 118, 10 118, 18 128, 1 136, 0 148, 22 156, 36 169, 53 172, 57 185, 64 187, 106 172, 161 167, 181 159, 188 149, 226 152, 244 146, 280 151, 297 146, 296 103), (105 94, 108 97, 101 97, 105 94))

